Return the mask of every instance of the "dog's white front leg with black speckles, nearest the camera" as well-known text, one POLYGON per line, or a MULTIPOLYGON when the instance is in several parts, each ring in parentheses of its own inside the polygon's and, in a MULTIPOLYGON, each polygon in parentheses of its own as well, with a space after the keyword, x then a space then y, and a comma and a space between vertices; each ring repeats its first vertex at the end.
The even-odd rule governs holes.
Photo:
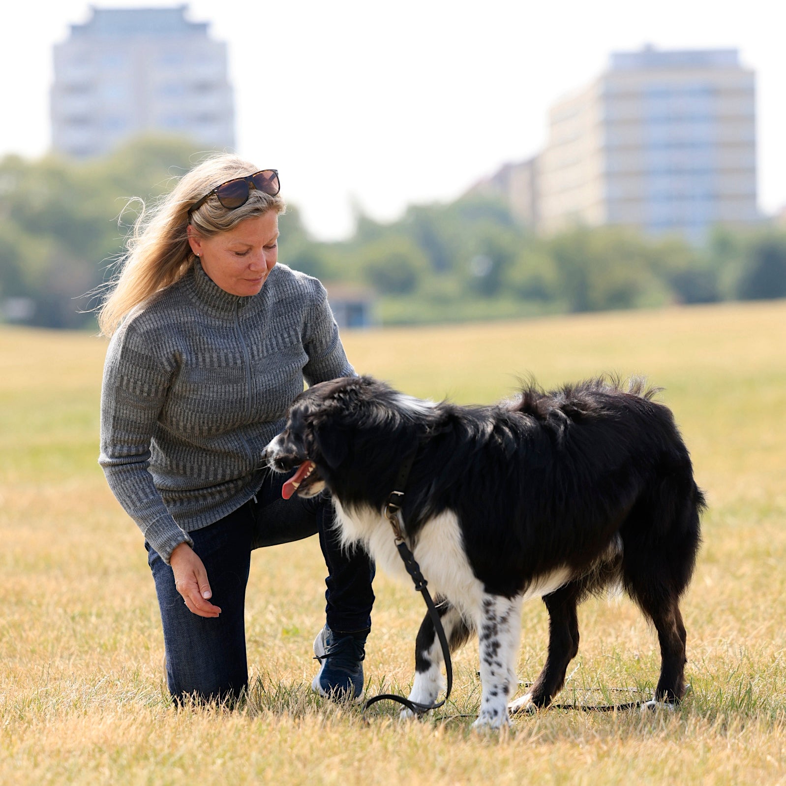
POLYGON ((516 686, 521 601, 521 596, 483 594, 478 620, 482 694, 473 729, 498 729, 510 722, 508 698, 516 686))

